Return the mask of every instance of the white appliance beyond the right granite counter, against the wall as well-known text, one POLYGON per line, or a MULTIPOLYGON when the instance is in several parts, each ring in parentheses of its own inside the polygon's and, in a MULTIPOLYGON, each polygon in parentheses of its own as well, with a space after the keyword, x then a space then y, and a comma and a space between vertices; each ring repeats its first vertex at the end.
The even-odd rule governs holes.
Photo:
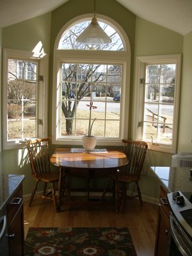
POLYGON ((192 152, 181 152, 173 155, 172 167, 192 167, 192 152))

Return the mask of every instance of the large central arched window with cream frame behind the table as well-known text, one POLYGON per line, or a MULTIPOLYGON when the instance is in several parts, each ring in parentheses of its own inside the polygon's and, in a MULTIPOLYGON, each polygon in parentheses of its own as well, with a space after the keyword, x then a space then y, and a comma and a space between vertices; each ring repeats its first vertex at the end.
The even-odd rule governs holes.
POLYGON ((127 138, 129 40, 116 22, 98 16, 100 26, 112 43, 84 45, 76 42, 91 17, 70 20, 56 38, 52 96, 55 144, 81 145, 81 137, 88 134, 90 102, 97 107, 91 116, 92 121, 96 118, 92 135, 97 136, 97 145, 118 145, 122 138, 127 138))

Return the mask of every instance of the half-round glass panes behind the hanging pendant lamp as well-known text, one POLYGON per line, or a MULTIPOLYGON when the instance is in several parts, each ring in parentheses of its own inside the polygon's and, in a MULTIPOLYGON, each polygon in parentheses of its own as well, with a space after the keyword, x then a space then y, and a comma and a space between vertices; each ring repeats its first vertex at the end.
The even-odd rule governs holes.
POLYGON ((79 36, 83 30, 90 24, 90 20, 84 20, 83 22, 77 22, 75 25, 67 29, 61 36, 58 49, 79 49, 79 50, 99 50, 99 51, 125 51, 124 44, 120 35, 106 22, 99 21, 99 26, 106 32, 111 38, 112 42, 106 45, 85 45, 76 42, 77 36, 79 36))

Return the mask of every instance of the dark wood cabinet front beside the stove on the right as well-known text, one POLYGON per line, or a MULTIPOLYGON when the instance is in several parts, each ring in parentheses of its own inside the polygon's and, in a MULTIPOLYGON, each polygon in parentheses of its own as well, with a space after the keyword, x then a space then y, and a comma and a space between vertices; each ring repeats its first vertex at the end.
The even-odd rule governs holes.
POLYGON ((170 243, 170 207, 166 198, 167 191, 161 186, 156 231, 155 256, 166 255, 170 243))

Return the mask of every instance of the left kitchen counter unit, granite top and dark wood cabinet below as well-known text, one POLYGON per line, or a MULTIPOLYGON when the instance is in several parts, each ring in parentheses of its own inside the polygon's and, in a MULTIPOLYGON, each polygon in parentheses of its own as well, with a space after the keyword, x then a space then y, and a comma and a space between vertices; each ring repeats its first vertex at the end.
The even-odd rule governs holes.
POLYGON ((0 218, 7 220, 1 255, 24 256, 24 211, 22 182, 24 175, 0 174, 0 218), (9 252, 8 252, 9 251, 9 252))

